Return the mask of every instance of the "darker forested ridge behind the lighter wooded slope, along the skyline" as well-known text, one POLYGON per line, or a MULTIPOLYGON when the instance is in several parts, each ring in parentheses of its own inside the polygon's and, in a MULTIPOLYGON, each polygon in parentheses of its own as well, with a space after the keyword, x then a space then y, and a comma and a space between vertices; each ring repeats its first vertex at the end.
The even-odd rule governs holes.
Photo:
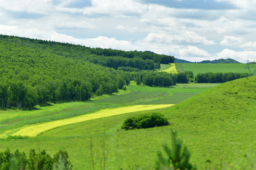
POLYGON ((118 67, 131 67, 154 70, 160 64, 174 63, 173 56, 155 54, 149 51, 121 51, 112 49, 90 48, 62 42, 51 42, 16 36, 0 35, 1 41, 22 44, 36 50, 61 55, 66 58, 82 59, 102 66, 118 69, 118 67))

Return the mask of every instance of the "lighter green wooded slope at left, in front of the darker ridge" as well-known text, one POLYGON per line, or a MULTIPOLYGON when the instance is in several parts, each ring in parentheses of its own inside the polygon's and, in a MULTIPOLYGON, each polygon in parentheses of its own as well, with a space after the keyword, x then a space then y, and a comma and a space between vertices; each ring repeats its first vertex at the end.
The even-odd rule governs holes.
POLYGON ((84 101, 114 93, 128 73, 0 41, 0 107, 32 107, 49 101, 84 101))

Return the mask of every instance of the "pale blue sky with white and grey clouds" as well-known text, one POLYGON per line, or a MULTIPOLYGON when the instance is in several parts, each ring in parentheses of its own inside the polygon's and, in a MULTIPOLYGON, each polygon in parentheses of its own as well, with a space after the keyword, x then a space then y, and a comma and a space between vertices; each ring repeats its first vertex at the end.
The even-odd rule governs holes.
POLYGON ((256 0, 0 0, 0 34, 256 61, 256 0))

